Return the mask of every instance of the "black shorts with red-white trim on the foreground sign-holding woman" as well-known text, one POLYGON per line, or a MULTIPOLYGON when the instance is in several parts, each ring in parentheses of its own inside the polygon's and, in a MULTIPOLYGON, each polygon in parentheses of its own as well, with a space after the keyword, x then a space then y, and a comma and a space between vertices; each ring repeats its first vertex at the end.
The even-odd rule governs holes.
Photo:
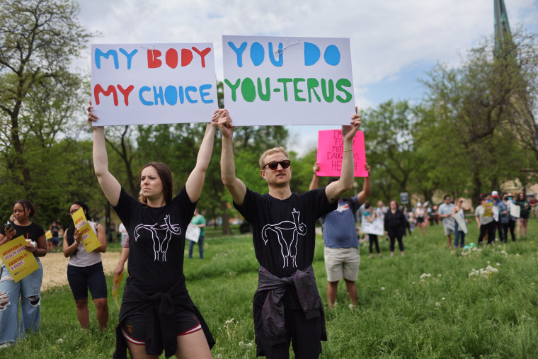
MULTIPOLYGON (((176 312, 176 328, 178 336, 185 336, 202 329, 200 320, 194 312, 183 309, 176 312)), ((126 341, 143 346, 146 344, 146 313, 136 312, 125 319, 122 325, 122 334, 126 341)))

